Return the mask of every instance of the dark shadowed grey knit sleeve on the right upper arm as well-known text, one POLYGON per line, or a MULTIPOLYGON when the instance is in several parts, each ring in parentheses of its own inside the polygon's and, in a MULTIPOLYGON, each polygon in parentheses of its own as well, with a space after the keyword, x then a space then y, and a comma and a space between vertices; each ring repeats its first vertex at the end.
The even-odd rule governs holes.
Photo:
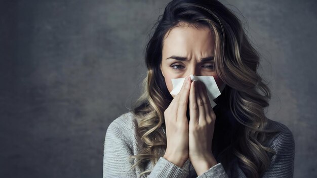
POLYGON ((271 148, 276 151, 276 154, 272 156, 271 163, 263 177, 293 177, 295 141, 293 133, 288 127, 283 126, 281 133, 272 141, 271 148))

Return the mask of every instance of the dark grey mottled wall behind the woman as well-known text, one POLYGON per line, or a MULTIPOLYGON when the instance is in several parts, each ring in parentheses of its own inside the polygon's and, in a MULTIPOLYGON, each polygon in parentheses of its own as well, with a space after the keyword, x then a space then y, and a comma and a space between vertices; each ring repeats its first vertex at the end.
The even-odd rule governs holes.
MULTIPOLYGON (((0 2, 0 177, 102 176, 106 128, 139 94, 166 3, 0 2)), ((224 4, 249 22, 273 91, 267 115, 295 136, 295 177, 317 177, 316 1, 224 4)))

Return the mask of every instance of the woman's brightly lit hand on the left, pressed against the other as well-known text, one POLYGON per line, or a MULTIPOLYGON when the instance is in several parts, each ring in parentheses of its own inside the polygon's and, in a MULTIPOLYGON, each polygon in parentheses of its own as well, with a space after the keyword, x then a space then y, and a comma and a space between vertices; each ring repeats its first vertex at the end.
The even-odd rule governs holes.
POLYGON ((186 77, 179 94, 164 112, 167 148, 163 157, 178 167, 183 167, 189 153, 186 111, 190 84, 190 77, 186 77))

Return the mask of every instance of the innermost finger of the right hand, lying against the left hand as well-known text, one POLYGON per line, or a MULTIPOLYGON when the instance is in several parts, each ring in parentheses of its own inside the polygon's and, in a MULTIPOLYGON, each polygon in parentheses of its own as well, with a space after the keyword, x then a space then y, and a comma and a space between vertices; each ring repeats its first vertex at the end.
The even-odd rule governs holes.
POLYGON ((189 91, 189 124, 198 124, 199 109, 196 102, 196 93, 196 81, 192 81, 189 91))

